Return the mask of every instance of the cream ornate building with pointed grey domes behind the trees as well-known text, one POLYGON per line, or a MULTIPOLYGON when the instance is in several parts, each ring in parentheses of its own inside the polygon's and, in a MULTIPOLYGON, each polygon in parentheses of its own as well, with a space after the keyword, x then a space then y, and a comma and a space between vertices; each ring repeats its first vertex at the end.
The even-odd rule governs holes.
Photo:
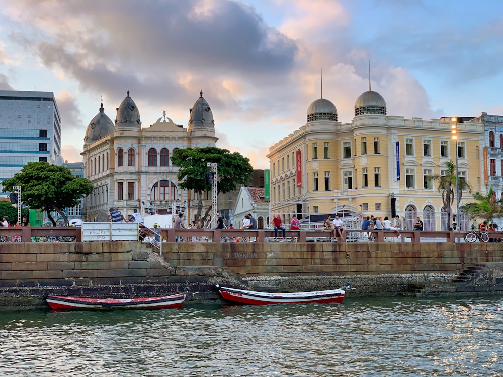
MULTIPOLYGON (((139 109, 129 91, 114 122, 101 104, 86 130, 82 153, 84 175, 95 187, 84 202, 85 220, 105 221, 114 206, 127 217, 135 210, 169 214, 178 205, 187 209, 186 220, 193 218, 199 198, 180 189, 178 167, 170 156, 177 148, 214 147, 218 139, 213 113, 202 92, 189 112, 186 128, 165 113, 142 128, 139 109)), ((211 195, 204 195, 208 207, 211 195)))

